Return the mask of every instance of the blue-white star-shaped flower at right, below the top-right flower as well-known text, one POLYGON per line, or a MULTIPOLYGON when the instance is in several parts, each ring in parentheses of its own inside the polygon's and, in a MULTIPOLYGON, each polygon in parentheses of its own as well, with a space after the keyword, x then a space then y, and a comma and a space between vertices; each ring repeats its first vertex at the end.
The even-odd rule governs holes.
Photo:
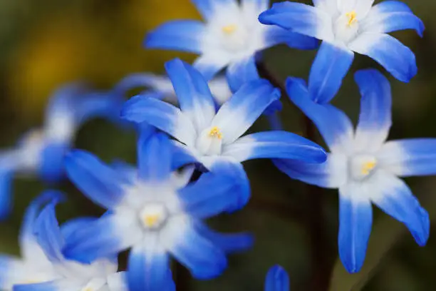
POLYGON ((276 160, 291 178, 339 190, 339 255, 348 272, 365 259, 373 220, 372 206, 404 223, 418 245, 427 242, 427 212, 398 177, 436 174, 436 139, 386 141, 391 126, 388 80, 376 70, 355 73, 362 99, 357 128, 342 111, 313 102, 306 83, 289 78, 292 101, 316 124, 331 153, 321 165, 276 160))

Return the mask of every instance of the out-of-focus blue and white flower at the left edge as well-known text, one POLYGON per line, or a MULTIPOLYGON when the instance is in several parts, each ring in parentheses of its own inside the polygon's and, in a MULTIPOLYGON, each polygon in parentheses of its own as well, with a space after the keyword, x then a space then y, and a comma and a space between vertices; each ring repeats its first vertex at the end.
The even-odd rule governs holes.
POLYGON ((38 175, 48 182, 61 180, 63 155, 70 149, 78 126, 95 116, 119 116, 120 100, 102 95, 79 83, 64 86, 48 103, 43 127, 26 133, 16 148, 0 153, 0 218, 11 209, 14 174, 38 175))

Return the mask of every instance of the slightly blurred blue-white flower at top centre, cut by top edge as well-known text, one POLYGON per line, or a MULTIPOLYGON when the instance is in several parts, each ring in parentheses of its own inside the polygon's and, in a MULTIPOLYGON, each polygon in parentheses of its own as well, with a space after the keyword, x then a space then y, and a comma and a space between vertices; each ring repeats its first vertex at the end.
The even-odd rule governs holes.
POLYGON ((264 26, 258 16, 269 7, 269 0, 192 0, 206 23, 195 20, 170 21, 147 35, 145 46, 199 53, 194 62, 207 80, 227 67, 232 91, 259 78, 256 54, 288 44, 313 49, 318 41, 279 27, 264 26))

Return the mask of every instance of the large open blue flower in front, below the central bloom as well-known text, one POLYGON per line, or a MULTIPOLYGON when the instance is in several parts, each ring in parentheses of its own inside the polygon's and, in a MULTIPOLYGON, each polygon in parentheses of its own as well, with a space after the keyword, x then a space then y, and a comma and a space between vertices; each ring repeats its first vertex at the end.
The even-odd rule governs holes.
POLYGON ((88 262, 132 247, 130 291, 174 290, 170 255, 196 278, 217 277, 227 267, 226 253, 251 246, 251 236, 214 233, 202 220, 241 203, 248 195, 246 180, 223 164, 219 174, 206 173, 189 183, 192 168, 172 171, 177 168, 174 148, 164 133, 142 133, 137 150, 137 170, 105 165, 82 150, 67 156, 69 178, 108 213, 77 232, 64 254, 88 262))

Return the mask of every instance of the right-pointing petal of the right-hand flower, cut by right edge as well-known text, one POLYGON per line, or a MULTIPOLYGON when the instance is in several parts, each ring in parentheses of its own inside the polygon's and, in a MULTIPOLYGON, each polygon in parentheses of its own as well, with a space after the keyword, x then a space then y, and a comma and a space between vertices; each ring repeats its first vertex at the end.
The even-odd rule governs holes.
POLYGON ((414 138, 388 141, 378 155, 383 168, 395 175, 436 174, 436 139, 414 138))

